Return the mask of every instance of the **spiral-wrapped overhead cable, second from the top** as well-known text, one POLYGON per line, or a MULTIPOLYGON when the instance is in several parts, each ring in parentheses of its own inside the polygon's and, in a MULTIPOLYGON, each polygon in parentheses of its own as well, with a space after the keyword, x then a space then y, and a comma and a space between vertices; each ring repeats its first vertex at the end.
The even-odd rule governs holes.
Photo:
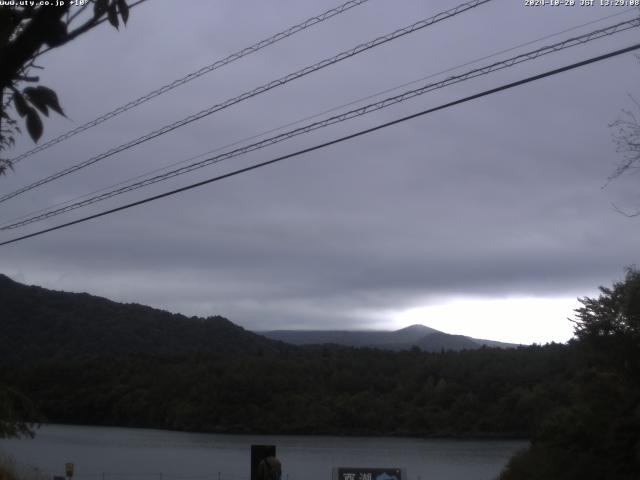
POLYGON ((132 147, 134 147, 136 145, 139 145, 141 143, 149 141, 149 140, 151 140, 153 138, 159 137, 160 135, 164 135, 166 133, 169 133, 169 132, 171 132, 171 131, 173 131, 173 130, 175 130, 177 128, 183 127, 183 126, 185 126, 185 125, 187 125, 189 123, 195 122, 196 120, 200 120, 200 119, 202 119, 202 118, 204 118, 204 117, 206 117, 208 115, 211 115, 211 114, 213 114, 215 112, 218 112, 218 111, 223 110, 225 108, 228 108, 228 107, 230 107, 232 105, 235 105, 236 103, 240 103, 240 102, 242 102, 244 100, 247 100, 248 98, 254 97, 254 96, 259 95, 259 94, 264 93, 264 92, 267 92, 267 91, 269 91, 269 90, 271 90, 273 88, 285 85, 285 84, 287 84, 287 83, 289 83, 289 82, 291 82, 293 80, 296 80, 298 78, 301 78, 301 77, 304 77, 306 75, 309 75, 309 74, 311 74, 313 72, 321 70, 321 69, 323 69, 325 67, 328 67, 330 65, 333 65, 335 63, 341 62, 342 60, 346 60, 348 58, 351 58, 351 57, 353 57, 355 55, 358 55, 358 54, 360 54, 362 52, 365 52, 367 50, 370 50, 372 48, 378 47, 378 46, 380 46, 380 45, 382 45, 384 43, 390 42, 390 41, 395 40, 395 39, 397 39, 399 37, 402 37, 404 35, 408 35, 408 34, 414 33, 414 32, 416 32, 418 30, 421 30, 421 29, 426 28, 428 26, 431 26, 431 25, 433 25, 433 24, 435 24, 437 22, 440 22, 440 21, 446 20, 448 18, 451 18, 451 17, 453 17, 455 15, 458 15, 460 13, 463 13, 463 12, 465 12, 467 10, 471 10, 473 8, 476 8, 476 7, 478 7, 478 6, 482 5, 482 4, 488 3, 490 1, 492 1, 492 0, 472 0, 470 2, 463 3, 463 4, 458 5, 457 7, 454 7, 452 9, 450 9, 450 10, 446 10, 444 12, 441 12, 441 13, 433 16, 433 17, 430 17, 430 18, 427 18, 427 19, 424 19, 424 20, 420 20, 419 22, 416 22, 416 23, 414 23, 412 25, 409 25, 407 27, 398 29, 398 30, 396 30, 394 32, 391 32, 391 33, 387 34, 387 35, 383 35, 383 36, 377 37, 374 40, 371 40, 371 41, 369 41, 367 43, 360 44, 360 45, 358 45, 356 47, 353 47, 353 48, 351 48, 349 50, 345 50, 345 51, 343 51, 343 52, 339 53, 338 55, 335 55, 335 56, 333 56, 331 58, 327 58, 327 59, 322 60, 322 61, 320 61, 318 63, 315 63, 315 64, 313 64, 311 66, 305 67, 302 70, 298 70, 295 73, 290 73, 289 75, 281 77, 281 78, 279 78, 277 80, 273 80, 273 81, 271 81, 269 83, 266 83, 266 84, 254 89, 254 90, 245 92, 245 93, 243 93, 243 94, 241 94, 241 95, 239 95, 237 97, 234 97, 232 99, 226 100, 223 103, 219 103, 217 105, 214 105, 214 106, 212 106, 212 107, 210 107, 208 109, 205 109, 205 110, 202 110, 202 111, 200 111, 198 113, 190 115, 190 116, 188 116, 186 118, 183 118, 182 120, 178 120, 177 122, 174 122, 174 123, 172 123, 170 125, 166 125, 166 126, 160 128, 158 130, 155 130, 155 131, 153 131, 151 133, 148 133, 148 134, 146 134, 146 135, 144 135, 142 137, 139 137, 139 138, 137 138, 135 140, 132 140, 132 141, 130 141, 128 143, 122 144, 122 145, 120 145, 118 147, 115 147, 115 148, 112 148, 112 149, 110 149, 110 150, 108 150, 108 151, 106 151, 104 153, 101 153, 99 155, 91 157, 90 159, 85 160, 84 162, 78 163, 78 164, 73 165, 73 166, 71 166, 69 168, 66 168, 66 169, 61 170, 61 171, 59 171, 57 173, 54 173, 54 174, 52 174, 52 175, 50 175, 48 177, 45 177, 45 178, 43 178, 41 180, 38 180, 37 182, 34 182, 34 183, 30 184, 30 185, 27 185, 25 187, 19 188, 18 190, 15 190, 15 191, 13 191, 11 193, 7 193, 7 194, 3 195, 2 197, 0 197, 0 202, 7 201, 7 200, 9 200, 9 199, 11 199, 13 197, 16 197, 16 196, 24 193, 24 192, 27 192, 29 190, 33 190, 34 188, 37 188, 37 187, 39 187, 41 185, 44 185, 44 184, 49 183, 49 182, 52 182, 53 180, 57 180, 60 177, 64 177, 66 175, 69 175, 69 174, 71 174, 73 172, 76 172, 76 171, 82 169, 82 168, 88 167, 89 165, 92 165, 92 164, 94 164, 96 162, 99 162, 100 160, 103 160, 103 159, 105 159, 107 157, 115 155, 116 153, 120 153, 120 152, 122 152, 124 150, 128 150, 129 148, 132 148, 132 147))

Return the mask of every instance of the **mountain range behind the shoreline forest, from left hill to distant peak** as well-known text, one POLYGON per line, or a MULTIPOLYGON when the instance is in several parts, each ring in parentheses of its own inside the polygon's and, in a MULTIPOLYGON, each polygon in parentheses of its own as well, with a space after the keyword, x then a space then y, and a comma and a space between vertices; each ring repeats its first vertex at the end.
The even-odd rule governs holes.
POLYGON ((186 317, 87 293, 27 286, 2 274, 0 326, 3 333, 0 361, 7 363, 131 353, 165 357, 197 353, 267 353, 295 348, 283 342, 396 351, 417 346, 427 352, 471 350, 482 345, 513 346, 449 335, 423 325, 395 332, 280 330, 253 333, 220 316, 186 317))

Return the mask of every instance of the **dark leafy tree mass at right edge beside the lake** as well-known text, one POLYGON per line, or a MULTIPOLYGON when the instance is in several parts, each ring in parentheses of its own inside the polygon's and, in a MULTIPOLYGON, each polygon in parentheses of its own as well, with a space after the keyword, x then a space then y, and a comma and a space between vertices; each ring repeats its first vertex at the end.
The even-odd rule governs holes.
POLYGON ((541 423, 501 480, 640 478, 640 271, 580 299, 571 399, 541 423))

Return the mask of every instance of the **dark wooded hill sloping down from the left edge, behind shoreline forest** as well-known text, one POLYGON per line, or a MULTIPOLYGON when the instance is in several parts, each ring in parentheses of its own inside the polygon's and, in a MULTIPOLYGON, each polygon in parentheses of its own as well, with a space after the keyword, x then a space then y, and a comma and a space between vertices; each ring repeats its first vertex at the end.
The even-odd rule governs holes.
POLYGON ((0 274, 0 361, 143 353, 266 353, 292 348, 226 318, 186 317, 86 293, 26 286, 0 274))

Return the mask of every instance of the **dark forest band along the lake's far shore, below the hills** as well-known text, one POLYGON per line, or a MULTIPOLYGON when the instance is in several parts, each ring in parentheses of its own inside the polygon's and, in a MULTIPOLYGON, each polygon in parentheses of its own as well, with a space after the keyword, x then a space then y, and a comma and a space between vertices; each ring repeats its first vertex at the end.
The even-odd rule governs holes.
POLYGON ((528 437, 568 398, 564 345, 464 352, 318 347, 46 361, 0 381, 53 422, 203 432, 528 437))

